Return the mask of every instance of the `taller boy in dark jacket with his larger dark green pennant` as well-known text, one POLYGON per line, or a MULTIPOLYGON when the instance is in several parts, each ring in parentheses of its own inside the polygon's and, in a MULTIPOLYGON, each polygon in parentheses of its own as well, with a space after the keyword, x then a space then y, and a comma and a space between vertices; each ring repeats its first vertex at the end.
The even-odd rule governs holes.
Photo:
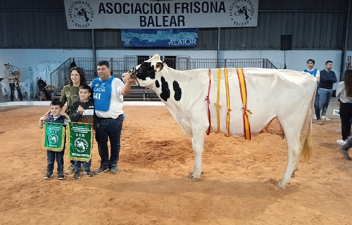
POLYGON ((83 164, 83 173, 86 176, 93 176, 90 170, 92 165, 92 125, 94 116, 94 102, 89 96, 92 94, 90 86, 80 86, 78 94, 80 99, 70 105, 72 122, 87 123, 86 126, 73 127, 70 124, 69 139, 70 139, 70 158, 75 160, 75 174, 73 179, 81 178, 81 166, 83 164))

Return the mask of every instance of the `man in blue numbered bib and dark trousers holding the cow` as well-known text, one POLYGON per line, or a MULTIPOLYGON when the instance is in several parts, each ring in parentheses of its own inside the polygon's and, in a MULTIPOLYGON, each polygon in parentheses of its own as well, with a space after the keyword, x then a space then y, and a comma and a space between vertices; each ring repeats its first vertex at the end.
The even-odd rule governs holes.
POLYGON ((98 143, 101 158, 100 167, 94 173, 102 174, 110 170, 111 174, 118 173, 118 159, 120 155, 120 136, 122 130, 123 96, 130 94, 134 78, 128 75, 125 84, 118 78, 111 76, 110 65, 107 61, 100 61, 97 65, 98 75, 91 83, 94 98, 95 139, 98 143), (110 158, 108 152, 110 142, 110 158))

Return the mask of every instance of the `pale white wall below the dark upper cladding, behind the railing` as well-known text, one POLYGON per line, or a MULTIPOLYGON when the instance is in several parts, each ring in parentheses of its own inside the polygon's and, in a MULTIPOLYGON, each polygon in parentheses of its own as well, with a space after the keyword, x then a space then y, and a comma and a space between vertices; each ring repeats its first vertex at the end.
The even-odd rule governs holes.
MULTIPOLYGON (((123 58, 125 56, 138 55, 138 56, 152 56, 158 53, 161 56, 189 56, 190 58, 216 58, 216 51, 203 51, 203 50, 99 50, 96 51, 97 58, 123 58)), ((352 56, 352 51, 347 51, 347 56, 352 56)), ((75 50, 75 49, 1 49, 0 63, 4 65, 5 62, 18 66, 21 70, 20 80, 25 81, 27 67, 32 63, 37 63, 42 60, 62 61, 68 58, 92 58, 92 50, 75 50)), ((279 50, 238 50, 238 51, 220 51, 220 58, 268 58, 277 68, 284 67, 284 51, 279 50)), ((304 70, 306 69, 306 61, 308 58, 315 60, 315 68, 323 70, 325 62, 332 60, 334 66, 332 70, 336 72, 337 79, 340 75, 341 65, 341 51, 308 51, 308 50, 292 50, 287 51, 287 68, 291 70, 304 70)), ((5 70, 5 67, 2 71, 5 70)), ((4 72, 1 72, 1 77, 4 77, 4 72)), ((5 81, 6 82, 6 81, 5 81)), ((336 88, 336 85, 334 87, 336 88)))

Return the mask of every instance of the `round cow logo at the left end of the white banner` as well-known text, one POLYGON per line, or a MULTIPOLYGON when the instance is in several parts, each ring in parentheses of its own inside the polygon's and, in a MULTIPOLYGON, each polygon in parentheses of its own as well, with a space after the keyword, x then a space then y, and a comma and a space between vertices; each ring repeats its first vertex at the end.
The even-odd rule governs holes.
POLYGON ((94 19, 93 6, 87 1, 73 1, 68 7, 68 23, 76 28, 89 28, 94 19))

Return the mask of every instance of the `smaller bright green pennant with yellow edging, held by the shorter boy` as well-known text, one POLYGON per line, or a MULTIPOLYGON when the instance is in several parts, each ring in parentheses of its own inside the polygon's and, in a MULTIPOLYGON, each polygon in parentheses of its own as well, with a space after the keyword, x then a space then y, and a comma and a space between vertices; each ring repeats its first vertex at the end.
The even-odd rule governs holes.
POLYGON ((65 127, 63 124, 55 122, 46 122, 42 139, 42 148, 61 152, 65 146, 65 127))

